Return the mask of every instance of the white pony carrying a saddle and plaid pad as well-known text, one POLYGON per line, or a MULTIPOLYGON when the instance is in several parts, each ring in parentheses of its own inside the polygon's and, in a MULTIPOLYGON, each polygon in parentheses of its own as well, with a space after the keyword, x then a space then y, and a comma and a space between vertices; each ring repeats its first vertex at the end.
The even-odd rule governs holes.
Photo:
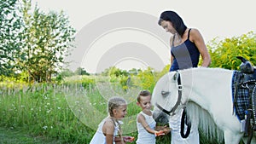
MULTIPOLYGON (((232 76, 233 71, 221 68, 190 68, 166 73, 152 94, 154 117, 162 111, 172 115, 186 106, 191 123, 197 124, 208 136, 219 141, 224 138, 226 144, 238 144, 241 138, 247 141, 233 113, 232 76), (181 92, 180 101, 178 91, 181 92)), ((256 143, 255 135, 251 143, 256 143)))

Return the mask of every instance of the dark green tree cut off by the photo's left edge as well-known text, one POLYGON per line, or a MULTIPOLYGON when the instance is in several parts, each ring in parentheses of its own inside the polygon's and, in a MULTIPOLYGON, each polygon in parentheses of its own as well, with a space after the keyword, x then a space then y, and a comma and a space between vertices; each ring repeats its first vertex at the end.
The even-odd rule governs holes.
POLYGON ((0 1, 0 75, 9 76, 20 53, 21 17, 15 11, 18 0, 0 1))

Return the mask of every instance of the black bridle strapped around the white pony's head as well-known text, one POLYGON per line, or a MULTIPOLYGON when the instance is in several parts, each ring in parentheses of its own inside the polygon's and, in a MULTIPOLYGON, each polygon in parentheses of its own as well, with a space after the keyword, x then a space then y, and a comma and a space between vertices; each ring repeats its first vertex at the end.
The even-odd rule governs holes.
POLYGON ((180 78, 180 73, 177 72, 177 101, 174 105, 174 107, 172 107, 172 109, 170 111, 167 111, 165 108, 161 107, 157 102, 155 103, 155 106, 157 108, 159 108, 162 112, 165 112, 166 114, 168 114, 169 116, 173 116, 175 115, 175 110, 177 109, 178 105, 181 104, 181 98, 182 98, 182 90, 183 90, 183 86, 181 84, 181 78, 180 78))

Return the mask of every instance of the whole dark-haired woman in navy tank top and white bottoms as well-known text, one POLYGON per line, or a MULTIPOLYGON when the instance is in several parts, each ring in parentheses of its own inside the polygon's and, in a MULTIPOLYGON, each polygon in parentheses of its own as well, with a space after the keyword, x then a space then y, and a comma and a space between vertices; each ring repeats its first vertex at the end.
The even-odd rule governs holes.
MULTIPOLYGON (((173 11, 165 11, 160 14, 159 25, 166 32, 171 32, 171 67, 170 72, 180 69, 197 67, 201 55, 201 66, 209 66, 211 58, 204 43, 201 33, 195 28, 188 28, 184 25, 182 18, 173 11)), ((170 118, 170 127, 172 129, 172 144, 200 143, 199 134, 195 124, 192 124, 189 136, 181 136, 181 121, 185 111, 177 112, 170 118)), ((185 118, 185 117, 183 117, 185 118)), ((189 129, 188 125, 184 126, 185 130, 189 129)), ((184 130, 184 131, 185 131, 184 130)))

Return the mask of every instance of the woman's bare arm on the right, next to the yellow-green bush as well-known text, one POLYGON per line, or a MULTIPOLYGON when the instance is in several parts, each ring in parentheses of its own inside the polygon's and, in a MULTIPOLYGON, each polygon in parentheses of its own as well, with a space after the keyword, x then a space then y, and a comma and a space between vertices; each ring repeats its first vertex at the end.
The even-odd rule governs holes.
POLYGON ((207 46, 204 42, 203 37, 201 36, 201 33, 197 29, 191 29, 189 39, 191 42, 195 43, 195 46, 201 54, 203 60, 201 66, 210 66, 211 56, 209 55, 207 46))

